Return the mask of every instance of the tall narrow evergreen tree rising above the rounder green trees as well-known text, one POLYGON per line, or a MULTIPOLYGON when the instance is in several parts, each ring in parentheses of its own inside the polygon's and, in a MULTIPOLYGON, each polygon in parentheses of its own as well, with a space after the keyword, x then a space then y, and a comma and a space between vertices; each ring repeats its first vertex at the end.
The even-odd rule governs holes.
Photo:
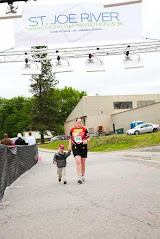
MULTIPOLYGON (((45 46, 35 47, 45 49, 45 46)), ((54 87, 57 84, 55 75, 52 73, 52 64, 47 60, 47 54, 34 55, 41 59, 42 74, 31 77, 31 93, 33 94, 32 128, 41 134, 41 143, 44 143, 44 134, 47 130, 57 130, 57 102, 54 100, 54 87)))

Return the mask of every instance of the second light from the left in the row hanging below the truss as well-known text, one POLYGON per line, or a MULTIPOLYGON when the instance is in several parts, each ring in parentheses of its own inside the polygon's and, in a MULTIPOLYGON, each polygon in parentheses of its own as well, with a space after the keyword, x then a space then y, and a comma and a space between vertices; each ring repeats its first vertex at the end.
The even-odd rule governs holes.
POLYGON ((73 71, 73 68, 70 65, 69 61, 64 58, 61 58, 59 55, 57 56, 57 61, 53 63, 52 69, 54 73, 73 71))

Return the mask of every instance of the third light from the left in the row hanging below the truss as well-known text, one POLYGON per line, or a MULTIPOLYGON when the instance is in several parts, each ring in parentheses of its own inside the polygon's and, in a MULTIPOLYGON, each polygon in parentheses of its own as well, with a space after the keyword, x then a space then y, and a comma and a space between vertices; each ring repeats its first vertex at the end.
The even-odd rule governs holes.
POLYGON ((88 55, 88 59, 85 61, 85 67, 87 72, 105 71, 104 62, 92 54, 88 55))

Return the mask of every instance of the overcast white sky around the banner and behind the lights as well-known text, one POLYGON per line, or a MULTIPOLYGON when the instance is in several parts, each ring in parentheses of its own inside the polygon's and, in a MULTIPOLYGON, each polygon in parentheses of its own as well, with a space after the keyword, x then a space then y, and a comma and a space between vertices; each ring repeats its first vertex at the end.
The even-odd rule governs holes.
MULTIPOLYGON (((59 0, 61 2, 62 0, 59 0)), ((87 2, 92 2, 88 0, 87 2)), ((43 2, 43 0, 42 0, 43 2)), ((45 1, 46 2, 46 1, 45 1)), ((68 3, 69 0, 63 0, 68 3)), ((74 0, 70 2, 80 2, 74 0)), ((143 0, 142 26, 145 38, 160 39, 160 1, 143 0)), ((136 16, 133 16, 133 20, 136 16)), ((0 51, 13 46, 9 20, 0 20, 0 51)), ((123 56, 105 57, 105 72, 85 72, 84 59, 74 59, 74 72, 56 74, 57 87, 73 87, 88 95, 160 94, 160 53, 141 54, 144 68, 124 69, 123 56)), ((0 63, 0 97, 30 97, 29 77, 21 75, 21 63, 0 63)))

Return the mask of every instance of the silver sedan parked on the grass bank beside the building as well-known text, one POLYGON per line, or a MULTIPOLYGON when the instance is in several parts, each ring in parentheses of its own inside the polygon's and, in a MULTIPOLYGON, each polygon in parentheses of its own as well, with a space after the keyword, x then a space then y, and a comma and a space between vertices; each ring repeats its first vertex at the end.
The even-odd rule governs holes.
POLYGON ((145 133, 155 133, 159 130, 159 124, 139 124, 133 129, 129 129, 126 131, 126 134, 145 134, 145 133))

